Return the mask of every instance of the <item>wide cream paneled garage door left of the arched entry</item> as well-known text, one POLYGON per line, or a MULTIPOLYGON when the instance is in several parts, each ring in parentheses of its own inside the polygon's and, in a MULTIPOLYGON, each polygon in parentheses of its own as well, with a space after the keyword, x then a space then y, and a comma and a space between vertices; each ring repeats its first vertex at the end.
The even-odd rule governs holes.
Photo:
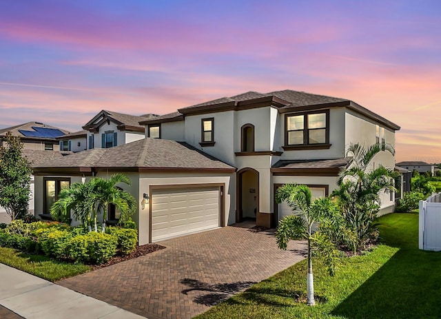
POLYGON ((219 187, 152 192, 152 242, 220 225, 219 187))

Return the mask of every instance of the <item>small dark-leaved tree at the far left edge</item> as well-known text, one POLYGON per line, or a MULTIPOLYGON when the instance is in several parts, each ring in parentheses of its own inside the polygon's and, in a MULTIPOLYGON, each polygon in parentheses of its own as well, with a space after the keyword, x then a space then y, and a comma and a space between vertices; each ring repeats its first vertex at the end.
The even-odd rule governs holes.
POLYGON ((12 220, 28 212, 30 196, 30 161, 23 156, 23 143, 18 136, 6 133, 0 147, 0 206, 12 220))

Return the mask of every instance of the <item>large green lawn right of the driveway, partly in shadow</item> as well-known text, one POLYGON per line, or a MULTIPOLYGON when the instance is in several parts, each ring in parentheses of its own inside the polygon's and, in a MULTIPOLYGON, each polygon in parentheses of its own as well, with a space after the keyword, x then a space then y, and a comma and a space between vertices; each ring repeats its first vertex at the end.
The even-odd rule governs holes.
POLYGON ((336 276, 315 263, 315 307, 303 302, 303 260, 196 318, 440 318, 441 252, 418 250, 418 214, 379 222, 383 244, 346 258, 336 276))

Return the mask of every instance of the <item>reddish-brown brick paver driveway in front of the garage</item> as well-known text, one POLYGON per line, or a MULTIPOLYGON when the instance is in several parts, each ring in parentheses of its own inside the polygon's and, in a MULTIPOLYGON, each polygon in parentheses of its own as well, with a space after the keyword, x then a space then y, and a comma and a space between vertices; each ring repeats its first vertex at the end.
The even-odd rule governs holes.
POLYGON ((305 243, 291 242, 283 251, 274 234, 240 227, 160 244, 167 248, 57 283, 150 319, 185 319, 305 255, 305 243))

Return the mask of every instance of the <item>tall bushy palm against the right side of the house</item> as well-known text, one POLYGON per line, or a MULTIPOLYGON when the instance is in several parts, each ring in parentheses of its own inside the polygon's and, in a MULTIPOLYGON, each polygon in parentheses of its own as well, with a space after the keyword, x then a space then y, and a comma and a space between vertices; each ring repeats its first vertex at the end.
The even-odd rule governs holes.
POLYGON ((358 143, 349 145, 346 154, 349 164, 340 172, 339 189, 332 194, 338 198, 348 226, 358 236, 358 249, 363 249, 376 232, 373 221, 381 205, 379 193, 396 190, 393 169, 371 165, 373 157, 382 151, 395 154, 393 147, 387 144, 377 143, 367 148, 358 143))

